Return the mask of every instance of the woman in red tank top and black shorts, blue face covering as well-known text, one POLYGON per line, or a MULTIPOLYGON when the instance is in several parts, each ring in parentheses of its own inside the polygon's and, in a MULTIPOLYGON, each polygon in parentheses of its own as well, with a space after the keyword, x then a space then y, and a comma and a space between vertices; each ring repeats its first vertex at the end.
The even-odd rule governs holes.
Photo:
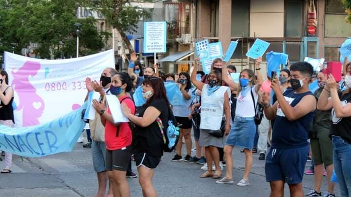
MULTIPOLYGON (((111 80, 111 94, 115 95, 119 102, 134 114, 134 102, 127 94, 133 89, 133 82, 128 73, 119 72, 111 80)), ((93 106, 100 115, 102 125, 105 126, 106 170, 112 183, 113 194, 129 197, 126 173, 132 155, 132 130, 128 123, 115 123, 110 108, 104 103, 94 99, 93 106)))

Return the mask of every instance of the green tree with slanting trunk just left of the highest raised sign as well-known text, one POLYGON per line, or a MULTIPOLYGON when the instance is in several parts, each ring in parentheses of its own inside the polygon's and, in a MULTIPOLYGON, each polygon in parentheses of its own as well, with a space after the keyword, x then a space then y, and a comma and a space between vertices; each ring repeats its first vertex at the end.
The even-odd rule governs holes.
MULTIPOLYGON (((137 23, 140 18, 151 18, 152 10, 133 6, 131 0, 87 0, 87 3, 89 2, 97 12, 105 16, 106 22, 117 30, 129 52, 134 52, 126 33, 137 32, 137 23)), ((138 0, 138 2, 152 2, 152 0, 138 0)))

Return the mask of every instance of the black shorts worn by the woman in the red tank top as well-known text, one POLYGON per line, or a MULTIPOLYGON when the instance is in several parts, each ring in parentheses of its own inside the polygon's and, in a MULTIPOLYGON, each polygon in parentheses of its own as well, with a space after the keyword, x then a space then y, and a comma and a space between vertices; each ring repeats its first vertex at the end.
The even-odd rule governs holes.
POLYGON ((106 149, 106 170, 118 170, 126 172, 131 160, 132 147, 127 146, 117 150, 106 149))

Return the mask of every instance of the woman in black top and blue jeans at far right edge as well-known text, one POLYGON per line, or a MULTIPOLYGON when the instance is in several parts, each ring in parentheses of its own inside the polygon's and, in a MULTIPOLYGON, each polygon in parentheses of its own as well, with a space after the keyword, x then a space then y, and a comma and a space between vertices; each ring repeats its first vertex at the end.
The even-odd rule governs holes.
POLYGON ((331 110, 331 140, 333 163, 338 178, 340 196, 351 197, 351 63, 346 64, 346 90, 339 91, 339 84, 330 74, 327 86, 319 96, 317 109, 331 110), (331 97, 328 98, 328 93, 331 97))

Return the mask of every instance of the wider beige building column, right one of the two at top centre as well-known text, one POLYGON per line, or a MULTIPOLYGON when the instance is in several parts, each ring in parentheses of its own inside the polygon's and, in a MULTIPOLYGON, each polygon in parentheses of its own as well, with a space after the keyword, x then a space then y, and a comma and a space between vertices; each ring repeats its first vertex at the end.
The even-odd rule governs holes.
POLYGON ((219 0, 218 38, 222 42, 223 52, 228 49, 232 30, 232 0, 219 0))

